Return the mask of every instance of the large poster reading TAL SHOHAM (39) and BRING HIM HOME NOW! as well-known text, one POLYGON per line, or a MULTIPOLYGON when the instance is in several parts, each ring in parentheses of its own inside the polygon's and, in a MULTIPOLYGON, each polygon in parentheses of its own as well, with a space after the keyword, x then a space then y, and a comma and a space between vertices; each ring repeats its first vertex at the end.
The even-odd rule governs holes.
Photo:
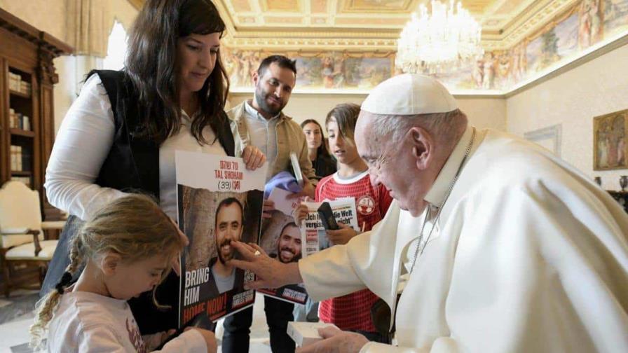
POLYGON ((211 321, 253 305, 244 285, 254 274, 228 264, 231 242, 257 242, 266 167, 247 170, 242 158, 177 151, 179 228, 189 245, 181 255, 179 326, 197 314, 211 321))

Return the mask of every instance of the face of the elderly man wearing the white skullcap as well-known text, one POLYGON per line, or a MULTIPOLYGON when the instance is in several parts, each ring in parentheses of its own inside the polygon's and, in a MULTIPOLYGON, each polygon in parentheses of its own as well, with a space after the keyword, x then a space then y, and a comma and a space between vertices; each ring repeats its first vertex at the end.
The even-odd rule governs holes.
POLYGON ((424 180, 423 171, 416 167, 408 135, 395 146, 389 137, 375 136, 371 131, 372 117, 373 114, 360 111, 355 125, 355 144, 369 166, 371 184, 383 184, 401 209, 419 216, 425 209, 424 199, 431 183, 424 180))

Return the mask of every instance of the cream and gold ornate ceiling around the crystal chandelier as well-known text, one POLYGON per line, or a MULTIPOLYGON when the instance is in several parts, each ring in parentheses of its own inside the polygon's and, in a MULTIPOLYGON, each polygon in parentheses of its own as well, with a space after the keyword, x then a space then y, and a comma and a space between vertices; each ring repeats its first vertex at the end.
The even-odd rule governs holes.
MULTIPOLYGON (((130 0, 136 7, 144 0, 130 0)), ((482 24, 485 50, 510 48, 580 0, 462 0, 482 24)), ((430 0, 214 0, 234 48, 395 50, 401 29, 430 0)))

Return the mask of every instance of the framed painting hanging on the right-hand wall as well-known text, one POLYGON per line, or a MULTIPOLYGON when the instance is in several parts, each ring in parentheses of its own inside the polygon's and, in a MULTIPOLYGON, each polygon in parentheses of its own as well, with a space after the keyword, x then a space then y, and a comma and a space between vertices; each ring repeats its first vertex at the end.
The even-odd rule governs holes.
POLYGON ((593 170, 628 168, 628 109, 593 118, 593 170))

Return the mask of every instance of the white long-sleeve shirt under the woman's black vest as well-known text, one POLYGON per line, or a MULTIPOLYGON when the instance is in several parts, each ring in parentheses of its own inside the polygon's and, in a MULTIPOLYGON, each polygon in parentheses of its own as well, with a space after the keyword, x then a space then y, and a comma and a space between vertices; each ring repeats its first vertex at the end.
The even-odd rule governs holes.
MULTIPOLYGON (((94 184, 114 142, 114 133, 109 96, 100 76, 93 75, 70 106, 50 154, 44 186, 51 205, 86 220, 100 207, 125 195, 94 184)), ((212 128, 205 127, 206 141, 214 141, 214 136, 212 128)), ((219 141, 198 144, 190 132, 190 119, 182 111, 181 130, 159 148, 160 206, 172 219, 177 219, 176 150, 226 155, 219 141)))

